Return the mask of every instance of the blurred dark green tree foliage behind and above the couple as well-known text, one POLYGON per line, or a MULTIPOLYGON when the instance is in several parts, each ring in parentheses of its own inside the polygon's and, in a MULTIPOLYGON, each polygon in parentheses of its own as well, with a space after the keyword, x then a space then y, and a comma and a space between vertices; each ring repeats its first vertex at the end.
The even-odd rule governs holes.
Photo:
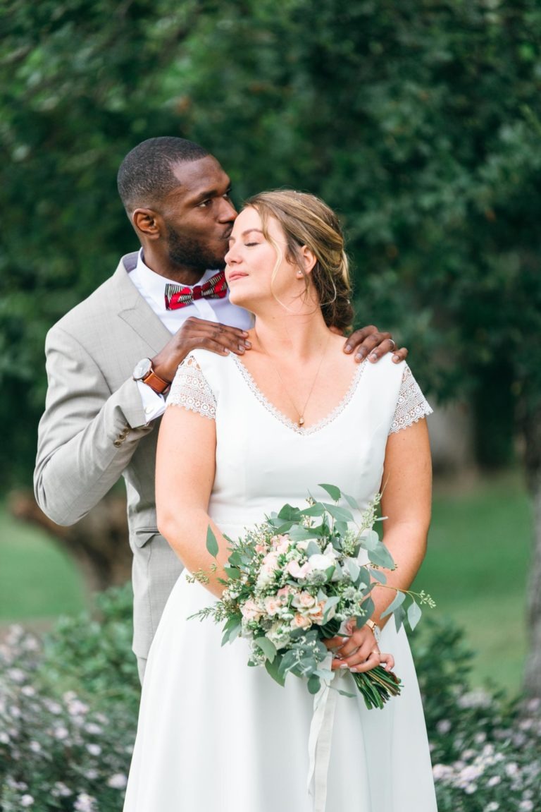
POLYGON ((118 163, 171 134, 239 199, 287 185, 340 212, 359 322, 469 392, 486 462, 514 421, 541 525, 537 0, 5 0, 0 30, 4 484, 32 468, 45 331, 135 246, 118 163))

